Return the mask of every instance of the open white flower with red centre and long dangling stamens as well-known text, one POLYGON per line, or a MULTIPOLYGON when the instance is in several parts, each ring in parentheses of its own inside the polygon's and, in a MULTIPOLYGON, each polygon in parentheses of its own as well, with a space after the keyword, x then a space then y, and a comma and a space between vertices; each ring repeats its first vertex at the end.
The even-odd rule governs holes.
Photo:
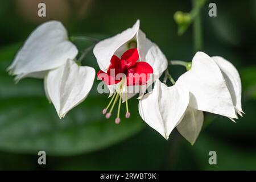
POLYGON ((159 47, 139 30, 139 20, 121 34, 96 44, 93 53, 100 67, 97 76, 108 85, 112 96, 109 105, 102 111, 106 118, 112 114, 120 96, 116 123, 120 122, 121 100, 126 102, 126 118, 129 118, 127 100, 138 93, 142 97, 147 86, 159 78, 168 65, 159 47))

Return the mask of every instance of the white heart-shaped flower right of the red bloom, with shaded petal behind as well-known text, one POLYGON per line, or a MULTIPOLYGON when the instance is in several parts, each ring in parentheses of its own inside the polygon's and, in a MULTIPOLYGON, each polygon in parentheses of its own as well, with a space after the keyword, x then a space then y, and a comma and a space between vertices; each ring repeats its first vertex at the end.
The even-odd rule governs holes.
POLYGON ((167 86, 156 80, 152 92, 139 101, 141 118, 153 129, 168 139, 177 128, 191 144, 195 143, 203 126, 203 112, 192 109, 189 92, 183 85, 167 86))

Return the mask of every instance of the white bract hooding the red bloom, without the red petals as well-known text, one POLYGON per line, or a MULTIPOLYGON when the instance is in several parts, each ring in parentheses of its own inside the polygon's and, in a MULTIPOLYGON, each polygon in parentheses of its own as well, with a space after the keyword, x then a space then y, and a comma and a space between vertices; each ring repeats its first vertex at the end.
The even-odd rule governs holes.
MULTIPOLYGON (((160 48, 155 43, 152 43, 147 39, 146 35, 139 30, 139 20, 137 20, 133 27, 128 28, 112 38, 108 38, 97 43, 93 49, 93 53, 97 59, 100 69, 102 71, 106 71, 110 65, 110 59, 112 56, 121 56, 123 52, 130 48, 129 44, 133 42, 137 43, 139 53, 138 61, 146 61, 154 70, 154 74, 152 74, 154 75, 154 79, 147 81, 146 86, 149 86, 166 70, 168 62, 160 48)), ((110 92, 113 93, 113 89, 118 87, 112 85, 109 86, 109 88, 110 92)), ((146 92, 144 85, 129 86, 129 88, 123 89, 123 93, 125 93, 125 90, 130 90, 130 93, 127 94, 127 99, 135 96, 135 94, 146 92)), ((122 99, 123 101, 126 100, 125 94, 122 94, 122 99)))

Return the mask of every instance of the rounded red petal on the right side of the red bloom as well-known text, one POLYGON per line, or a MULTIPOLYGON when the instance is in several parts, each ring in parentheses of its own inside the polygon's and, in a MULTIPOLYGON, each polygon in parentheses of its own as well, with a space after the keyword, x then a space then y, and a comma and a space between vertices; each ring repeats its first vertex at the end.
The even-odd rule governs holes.
POLYGON ((127 85, 145 85, 152 73, 153 68, 150 64, 144 61, 137 62, 127 71, 127 85))

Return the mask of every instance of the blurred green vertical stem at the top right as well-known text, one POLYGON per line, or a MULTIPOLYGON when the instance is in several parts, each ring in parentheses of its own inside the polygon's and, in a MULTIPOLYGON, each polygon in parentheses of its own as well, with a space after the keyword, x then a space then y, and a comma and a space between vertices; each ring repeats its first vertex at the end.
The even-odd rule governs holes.
MULTIPOLYGON (((199 5, 198 0, 193 0, 193 8, 197 9, 199 5)), ((197 14, 193 21, 193 38, 194 38, 194 51, 200 51, 203 47, 203 38, 202 38, 202 27, 201 27, 201 15, 200 10, 197 11, 197 14)))

